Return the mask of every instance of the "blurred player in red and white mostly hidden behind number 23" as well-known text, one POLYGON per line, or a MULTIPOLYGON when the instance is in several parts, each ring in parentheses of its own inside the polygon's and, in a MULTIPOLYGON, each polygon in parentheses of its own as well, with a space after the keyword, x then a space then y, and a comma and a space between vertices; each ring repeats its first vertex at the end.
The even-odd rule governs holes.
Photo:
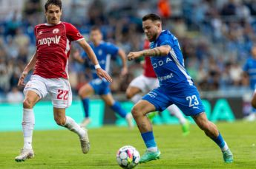
MULTIPOLYGON (((150 42, 147 39, 144 41, 143 48, 150 49, 150 42)), ((142 99, 142 94, 148 93, 151 90, 159 87, 159 82, 149 57, 145 57, 143 69, 143 75, 140 75, 139 77, 136 77, 134 80, 132 80, 128 86, 128 89, 126 90, 126 97, 130 99, 134 104, 142 99)), ((183 135, 189 134, 189 122, 185 117, 183 117, 183 113, 180 111, 180 109, 177 108, 177 106, 174 104, 168 106, 167 109, 171 115, 177 117, 179 120, 180 125, 182 125, 183 135)), ((154 112, 151 112, 149 118, 154 118, 154 114, 154 112)))

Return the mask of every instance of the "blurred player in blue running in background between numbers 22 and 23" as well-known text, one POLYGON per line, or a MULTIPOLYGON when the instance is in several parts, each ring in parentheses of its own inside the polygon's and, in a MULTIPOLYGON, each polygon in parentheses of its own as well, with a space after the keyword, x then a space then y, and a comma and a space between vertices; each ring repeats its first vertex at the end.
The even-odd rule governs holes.
MULTIPOLYGON (((102 32, 100 31, 99 27, 92 27, 90 32, 91 38, 91 48, 96 54, 97 59, 99 60, 99 65, 102 69, 105 69, 106 72, 110 71, 110 62, 111 56, 114 57, 119 55, 122 59, 122 71, 120 72, 120 76, 124 76, 127 74, 128 69, 126 65, 126 55, 122 49, 115 46, 114 44, 107 43, 102 41, 102 32)), ((73 58, 80 63, 83 63, 85 60, 88 60, 88 55, 83 52, 82 56, 79 55, 79 52, 76 51, 73 55, 73 58)), ((132 128, 132 116, 128 114, 120 105, 119 102, 114 100, 111 89, 110 83, 105 79, 99 79, 97 77, 95 70, 93 69, 93 64, 89 61, 90 68, 93 74, 93 80, 90 83, 86 83, 84 86, 79 89, 79 97, 82 99, 82 105, 85 111, 85 119, 82 121, 81 126, 85 127, 89 123, 91 123, 91 119, 89 116, 89 98, 92 94, 98 94, 102 100, 106 103, 106 105, 110 106, 111 109, 119 114, 120 117, 123 117, 127 120, 129 128, 132 128)))

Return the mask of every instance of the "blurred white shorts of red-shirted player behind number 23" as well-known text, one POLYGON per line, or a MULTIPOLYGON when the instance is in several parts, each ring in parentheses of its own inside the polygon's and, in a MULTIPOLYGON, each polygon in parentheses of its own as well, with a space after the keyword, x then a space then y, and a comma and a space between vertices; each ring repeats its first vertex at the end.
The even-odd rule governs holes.
POLYGON ((157 77, 145 77, 145 75, 140 75, 132 80, 129 86, 137 87, 143 93, 148 93, 159 87, 159 81, 157 77))

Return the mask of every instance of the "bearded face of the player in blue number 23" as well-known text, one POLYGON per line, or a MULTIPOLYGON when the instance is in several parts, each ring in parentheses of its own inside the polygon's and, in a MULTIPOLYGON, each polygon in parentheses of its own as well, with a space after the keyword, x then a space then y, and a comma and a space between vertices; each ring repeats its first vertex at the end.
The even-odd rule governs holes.
POLYGON ((148 41, 155 41, 157 39, 157 33, 159 32, 160 27, 156 22, 149 19, 142 21, 142 28, 148 38, 148 41))

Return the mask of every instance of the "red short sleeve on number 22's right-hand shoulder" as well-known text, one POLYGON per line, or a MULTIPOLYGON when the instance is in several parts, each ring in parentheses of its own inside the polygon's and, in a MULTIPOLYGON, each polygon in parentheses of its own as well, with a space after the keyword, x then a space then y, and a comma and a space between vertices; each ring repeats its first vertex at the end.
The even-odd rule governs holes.
POLYGON ((79 32, 79 30, 76 29, 72 24, 65 24, 66 27, 66 35, 68 40, 70 41, 81 41, 82 39, 85 39, 79 32))

